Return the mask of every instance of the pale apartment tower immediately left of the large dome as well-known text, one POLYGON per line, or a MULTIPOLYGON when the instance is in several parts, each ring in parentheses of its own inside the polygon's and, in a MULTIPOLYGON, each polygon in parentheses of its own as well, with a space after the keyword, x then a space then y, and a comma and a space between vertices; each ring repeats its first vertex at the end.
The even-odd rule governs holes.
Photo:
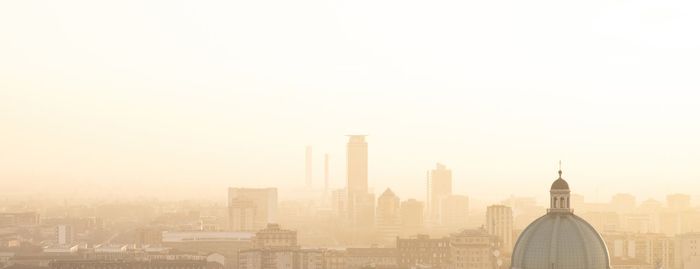
POLYGON ((486 208, 486 230, 495 236, 501 250, 513 251, 513 210, 504 205, 492 205, 486 208))

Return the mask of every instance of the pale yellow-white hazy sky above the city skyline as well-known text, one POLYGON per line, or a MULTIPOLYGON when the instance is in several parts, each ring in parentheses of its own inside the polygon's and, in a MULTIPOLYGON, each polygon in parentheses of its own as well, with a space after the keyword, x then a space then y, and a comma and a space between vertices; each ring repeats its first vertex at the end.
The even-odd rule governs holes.
POLYGON ((697 1, 1 1, 3 194, 700 195, 697 1))

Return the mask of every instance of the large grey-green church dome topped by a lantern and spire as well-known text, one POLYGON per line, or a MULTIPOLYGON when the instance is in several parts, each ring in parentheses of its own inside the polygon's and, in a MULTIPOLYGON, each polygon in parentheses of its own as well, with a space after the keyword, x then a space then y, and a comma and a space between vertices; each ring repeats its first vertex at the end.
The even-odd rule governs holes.
POLYGON ((520 234, 511 269, 610 269, 605 241, 570 208, 569 184, 561 178, 550 190, 547 214, 520 234))

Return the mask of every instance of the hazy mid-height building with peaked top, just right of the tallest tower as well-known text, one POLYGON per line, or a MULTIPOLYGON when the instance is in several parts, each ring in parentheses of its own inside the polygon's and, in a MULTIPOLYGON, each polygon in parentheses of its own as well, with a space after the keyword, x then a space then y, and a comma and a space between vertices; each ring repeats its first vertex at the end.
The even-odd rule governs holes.
POLYGON ((401 203, 391 189, 386 189, 377 199, 376 215, 379 240, 393 243, 401 230, 401 203))

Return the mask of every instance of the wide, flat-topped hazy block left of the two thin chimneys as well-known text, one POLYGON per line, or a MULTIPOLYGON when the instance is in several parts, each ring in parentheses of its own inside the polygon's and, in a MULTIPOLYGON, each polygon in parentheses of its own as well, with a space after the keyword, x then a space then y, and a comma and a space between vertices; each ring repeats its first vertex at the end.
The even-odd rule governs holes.
POLYGON ((277 222, 277 188, 229 188, 228 201, 229 229, 240 231, 240 227, 248 227, 245 223, 240 224, 244 222, 243 219, 237 218, 248 218, 251 205, 254 206, 252 230, 277 222))

